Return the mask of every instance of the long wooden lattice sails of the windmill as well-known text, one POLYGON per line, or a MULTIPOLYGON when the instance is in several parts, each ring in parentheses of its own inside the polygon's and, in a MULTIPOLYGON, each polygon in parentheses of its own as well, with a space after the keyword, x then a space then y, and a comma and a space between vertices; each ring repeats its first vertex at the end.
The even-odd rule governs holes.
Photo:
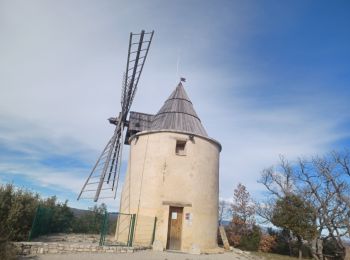
POLYGON ((128 114, 135 97, 137 85, 152 42, 154 31, 130 33, 126 70, 122 83, 121 112, 118 117, 109 118, 116 126, 113 136, 103 149, 87 180, 79 199, 114 198, 117 194, 121 156, 123 149, 124 129, 128 127, 128 114))

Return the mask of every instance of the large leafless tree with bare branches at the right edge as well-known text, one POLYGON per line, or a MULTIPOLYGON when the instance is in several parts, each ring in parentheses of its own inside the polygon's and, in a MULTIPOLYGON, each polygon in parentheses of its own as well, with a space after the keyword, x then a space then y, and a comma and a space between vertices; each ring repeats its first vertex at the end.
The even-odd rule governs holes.
POLYGON ((270 194, 268 202, 259 203, 258 215, 271 220, 271 208, 277 199, 298 194, 310 203, 317 218, 317 235, 311 241, 315 259, 323 259, 325 239, 331 239, 345 257, 344 237, 350 235, 350 153, 332 152, 294 164, 280 157, 280 165, 263 170, 259 180, 270 194))

